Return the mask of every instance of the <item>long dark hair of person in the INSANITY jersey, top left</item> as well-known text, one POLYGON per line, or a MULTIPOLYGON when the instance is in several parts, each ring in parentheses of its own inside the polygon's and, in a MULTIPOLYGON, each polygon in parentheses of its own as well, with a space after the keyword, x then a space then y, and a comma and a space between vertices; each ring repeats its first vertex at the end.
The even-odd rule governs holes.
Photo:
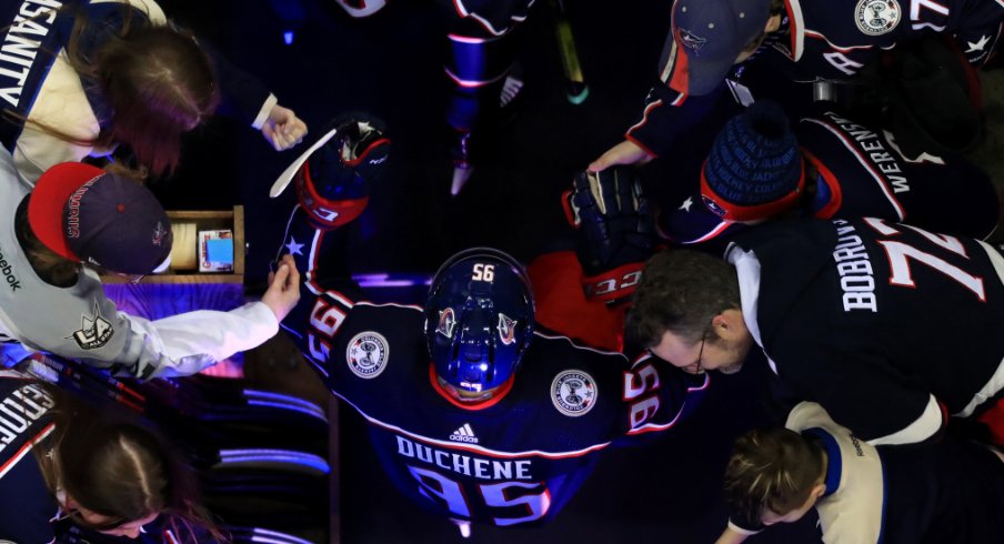
POLYGON ((137 177, 170 174, 181 155, 181 135, 200 125, 220 102, 209 54, 194 36, 173 24, 155 26, 122 6, 117 23, 74 13, 67 44, 70 64, 84 88, 104 102, 101 131, 92 140, 4 111, 63 141, 111 148, 129 145, 137 177), (97 28, 94 28, 97 27, 97 28), (97 38, 96 38, 97 37, 97 38))

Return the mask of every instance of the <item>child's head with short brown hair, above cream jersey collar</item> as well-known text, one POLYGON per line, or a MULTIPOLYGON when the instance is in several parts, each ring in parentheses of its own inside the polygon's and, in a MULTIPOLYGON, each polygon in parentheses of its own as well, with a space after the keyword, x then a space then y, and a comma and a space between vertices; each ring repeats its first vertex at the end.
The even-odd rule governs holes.
POLYGON ((725 470, 725 500, 749 523, 793 523, 825 492, 823 450, 784 427, 750 431, 725 470))

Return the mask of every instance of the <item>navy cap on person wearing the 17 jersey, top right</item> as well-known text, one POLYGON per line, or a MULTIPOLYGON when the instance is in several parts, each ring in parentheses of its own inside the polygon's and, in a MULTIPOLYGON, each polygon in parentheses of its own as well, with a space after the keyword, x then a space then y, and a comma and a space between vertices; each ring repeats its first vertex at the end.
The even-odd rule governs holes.
POLYGON ((743 49, 766 27, 771 0, 676 0, 673 89, 700 97, 724 81, 743 49))

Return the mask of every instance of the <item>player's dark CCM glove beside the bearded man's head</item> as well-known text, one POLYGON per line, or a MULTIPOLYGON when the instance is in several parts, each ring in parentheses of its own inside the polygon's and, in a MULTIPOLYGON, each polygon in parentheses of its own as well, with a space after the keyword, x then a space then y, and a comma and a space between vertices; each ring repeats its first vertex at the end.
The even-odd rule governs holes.
POLYGON ((590 300, 615 304, 634 292, 652 253, 654 222, 634 169, 580 172, 562 195, 576 231, 576 253, 590 300))

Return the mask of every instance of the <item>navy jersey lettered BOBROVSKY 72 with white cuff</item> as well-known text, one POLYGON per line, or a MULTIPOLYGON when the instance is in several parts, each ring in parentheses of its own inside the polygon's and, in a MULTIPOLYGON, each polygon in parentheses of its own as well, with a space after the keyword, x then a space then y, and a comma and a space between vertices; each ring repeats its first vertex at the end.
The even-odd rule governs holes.
POLYGON ((743 316, 801 399, 873 444, 921 442, 1004 389, 1004 258, 880 219, 737 236, 743 316))

